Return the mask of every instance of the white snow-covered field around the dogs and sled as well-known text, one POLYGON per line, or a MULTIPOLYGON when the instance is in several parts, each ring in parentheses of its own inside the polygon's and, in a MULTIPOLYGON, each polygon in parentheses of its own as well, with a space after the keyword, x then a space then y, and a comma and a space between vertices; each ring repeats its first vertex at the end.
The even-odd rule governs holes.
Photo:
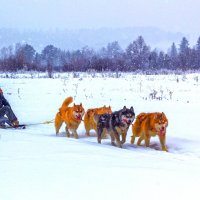
POLYGON ((4 96, 25 130, 0 129, 1 200, 199 199, 200 75, 39 74, 0 76, 4 96), (123 149, 110 139, 97 143, 94 131, 78 140, 55 136, 52 120, 63 100, 72 96, 88 108, 124 105, 140 112, 165 112, 167 147, 158 138, 150 148, 123 149))

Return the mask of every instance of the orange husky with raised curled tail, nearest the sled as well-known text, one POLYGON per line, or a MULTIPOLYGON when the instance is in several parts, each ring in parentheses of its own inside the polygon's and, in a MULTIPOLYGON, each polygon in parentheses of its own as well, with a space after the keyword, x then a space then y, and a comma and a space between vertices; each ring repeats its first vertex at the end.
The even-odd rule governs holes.
POLYGON ((66 134, 67 137, 70 137, 69 130, 74 134, 74 138, 78 138, 77 134, 77 128, 79 124, 81 123, 82 117, 85 113, 84 108, 82 107, 82 103, 80 105, 73 105, 72 107, 68 107, 70 103, 72 103, 73 98, 68 97, 63 102, 61 108, 59 109, 59 112, 56 114, 55 118, 55 128, 56 128, 56 135, 58 135, 60 127, 62 126, 62 123, 66 123, 66 134))

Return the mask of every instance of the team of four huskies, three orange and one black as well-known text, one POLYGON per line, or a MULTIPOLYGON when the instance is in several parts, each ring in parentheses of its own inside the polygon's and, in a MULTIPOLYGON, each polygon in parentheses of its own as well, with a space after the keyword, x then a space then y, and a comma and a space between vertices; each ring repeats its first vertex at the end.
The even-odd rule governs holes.
POLYGON ((122 148, 122 145, 126 142, 127 131, 131 125, 131 144, 134 144, 135 138, 139 137, 137 145, 141 145, 141 142, 144 140, 145 146, 149 147, 150 138, 157 135, 162 150, 167 151, 166 128, 168 126, 168 119, 163 112, 140 113, 133 123, 135 119, 133 107, 129 109, 124 106, 121 110, 112 112, 110 106, 103 106, 88 109, 85 113, 82 103, 80 105, 74 103, 73 106, 69 107, 69 104, 72 102, 72 97, 66 98, 56 114, 54 122, 56 135, 58 135, 63 122, 65 122, 67 137, 70 137, 70 133, 72 133, 74 138, 78 138, 77 129, 81 121, 83 121, 86 136, 90 136, 90 130, 94 129, 97 133, 98 143, 101 143, 101 140, 106 135, 110 135, 111 144, 122 148), (84 119, 82 120, 83 116, 84 119))

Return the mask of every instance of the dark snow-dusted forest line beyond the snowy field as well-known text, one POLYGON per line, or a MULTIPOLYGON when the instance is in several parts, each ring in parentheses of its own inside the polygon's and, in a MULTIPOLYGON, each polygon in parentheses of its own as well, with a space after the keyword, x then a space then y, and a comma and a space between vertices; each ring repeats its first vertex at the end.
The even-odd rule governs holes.
POLYGON ((59 72, 156 72, 161 70, 199 70, 200 37, 194 47, 183 37, 180 45, 172 43, 168 52, 151 50, 139 36, 123 50, 117 41, 94 50, 89 47, 63 51, 47 45, 41 53, 29 44, 16 44, 0 50, 0 71, 59 71, 59 72))

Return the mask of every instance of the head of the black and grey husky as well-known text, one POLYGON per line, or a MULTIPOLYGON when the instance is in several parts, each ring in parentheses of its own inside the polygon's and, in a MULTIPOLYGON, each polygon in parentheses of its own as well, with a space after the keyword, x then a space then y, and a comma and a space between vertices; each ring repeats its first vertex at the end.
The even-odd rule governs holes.
POLYGON ((124 106, 121 111, 122 123, 130 125, 134 119, 135 119, 135 113, 134 113, 133 107, 131 106, 131 108, 129 109, 129 108, 126 108, 126 106, 124 106))

